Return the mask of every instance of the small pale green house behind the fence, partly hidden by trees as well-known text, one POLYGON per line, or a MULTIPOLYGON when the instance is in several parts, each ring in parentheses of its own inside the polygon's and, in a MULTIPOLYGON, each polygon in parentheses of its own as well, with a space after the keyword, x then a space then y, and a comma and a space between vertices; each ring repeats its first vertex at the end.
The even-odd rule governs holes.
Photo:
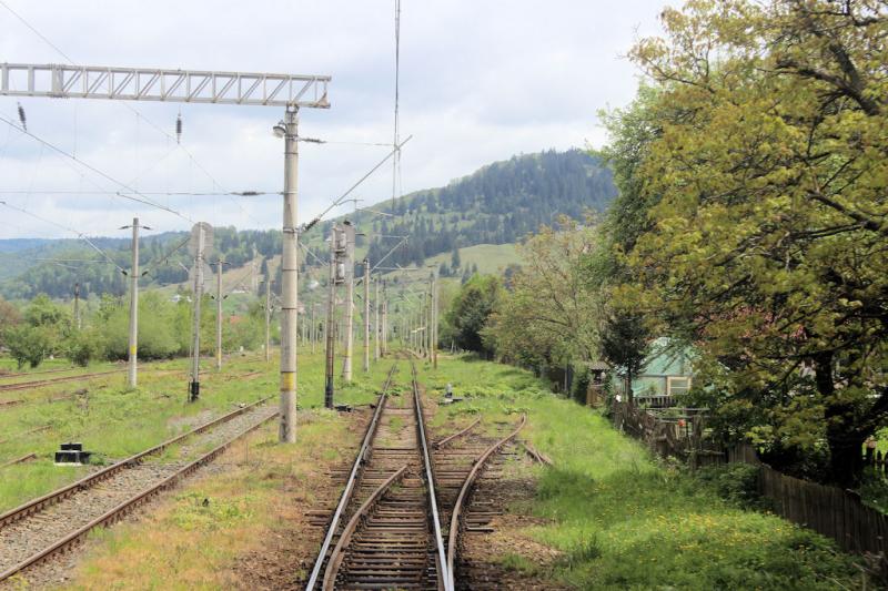
MULTIPOLYGON (((622 389, 623 380, 616 379, 622 389)), ((666 408, 676 406, 675 397, 686 394, 693 379, 690 353, 660 337, 654 342, 645 367, 633 378, 632 391, 638 406, 666 408)))

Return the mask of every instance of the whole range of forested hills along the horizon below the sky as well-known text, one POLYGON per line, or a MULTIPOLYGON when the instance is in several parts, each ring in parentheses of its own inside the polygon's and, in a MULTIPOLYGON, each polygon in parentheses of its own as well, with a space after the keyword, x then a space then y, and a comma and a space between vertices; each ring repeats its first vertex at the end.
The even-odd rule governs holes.
MULTIPOLYGON (((380 261, 397 242, 384 236, 410 236, 386 264, 423 264, 430 256, 476 244, 518 242, 539 224, 565 214, 582 218, 587 211, 603 211, 614 198, 610 171, 579 150, 542 152, 515 156, 484 166, 447 186, 424 190, 373 206, 391 216, 359 212, 347 217, 365 234, 359 238, 359 257, 369 254, 380 261)), ((326 245, 333 221, 326 221, 305 235, 315 255, 326 261, 326 245)), ((230 268, 254 257, 268 258, 281 252, 279 230, 236 231, 215 228, 215 253, 230 268)), ((148 275, 145 285, 182 283, 190 265, 186 251, 170 251, 186 234, 171 232, 148 235, 140 241, 140 265, 148 275)), ((93 238, 121 268, 130 267, 130 241, 93 238)), ((263 266, 264 267, 264 266, 263 266)), ((264 268, 262 269, 264 271, 264 268)), ((81 241, 0 241, 0 295, 31 298, 39 293, 69 298, 74 283, 81 294, 125 293, 122 273, 81 241), (41 261, 53 258, 56 262, 41 261), (69 262, 89 259, 92 263, 69 262)))

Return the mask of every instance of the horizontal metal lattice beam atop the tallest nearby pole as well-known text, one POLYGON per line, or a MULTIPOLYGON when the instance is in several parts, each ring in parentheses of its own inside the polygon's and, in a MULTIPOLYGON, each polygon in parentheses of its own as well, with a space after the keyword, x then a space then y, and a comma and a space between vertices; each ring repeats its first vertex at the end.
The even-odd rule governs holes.
POLYGON ((330 108, 327 75, 157 68, 0 64, 0 94, 265 106, 330 108))

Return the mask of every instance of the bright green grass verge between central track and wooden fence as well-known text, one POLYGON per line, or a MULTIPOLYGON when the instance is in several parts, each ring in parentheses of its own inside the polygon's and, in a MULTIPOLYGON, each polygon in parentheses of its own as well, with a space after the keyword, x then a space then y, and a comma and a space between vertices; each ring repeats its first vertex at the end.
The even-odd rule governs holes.
MULTIPOLYGON (((435 422, 482 412, 485 422, 517 422, 552 457, 534 468, 532 502, 512 511, 542 518, 522 533, 559 551, 546 564, 504 557, 504 565, 577 589, 857 588, 854 558, 824 537, 773 514, 745 510, 714 486, 656 461, 597 412, 544 390, 529 374, 484 361, 442 358, 424 368, 432 389, 456 396, 435 422), (466 415, 462 416, 461 415, 466 415)), ((527 558, 527 557, 525 557, 527 558)))

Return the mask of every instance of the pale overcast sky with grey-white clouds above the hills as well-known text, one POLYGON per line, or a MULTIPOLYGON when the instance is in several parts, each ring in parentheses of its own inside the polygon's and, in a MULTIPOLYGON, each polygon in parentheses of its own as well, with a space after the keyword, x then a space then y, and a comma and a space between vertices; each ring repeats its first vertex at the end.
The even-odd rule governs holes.
MULTIPOLYGON (((360 143, 392 141, 394 0, 2 2, 78 64, 331 75, 331 109, 303 109, 300 133, 341 143, 300 144, 301 222, 389 151, 360 143)), ((413 135, 403 192, 518 153, 601 145, 596 113, 632 100, 638 72, 623 55, 659 31, 664 3, 402 0, 401 131, 413 135)), ((0 62, 64 63, 51 44, 0 4, 0 62)), ((283 141, 271 132, 280 109, 20 102, 34 135, 140 191, 281 191, 283 141), (180 111, 176 146, 169 135, 180 111)), ((16 103, 0 96, 0 115, 17 121, 16 103)), ((119 188, 0 122, 0 201, 90 235, 123 236, 117 228, 135 215, 158 231, 190 225, 103 194, 119 188)), ((354 195, 370 204, 391 193, 386 165, 354 195)), ((151 198, 213 225, 281 226, 280 195, 151 198)), ((0 238, 74 235, 0 206, 0 238)))

